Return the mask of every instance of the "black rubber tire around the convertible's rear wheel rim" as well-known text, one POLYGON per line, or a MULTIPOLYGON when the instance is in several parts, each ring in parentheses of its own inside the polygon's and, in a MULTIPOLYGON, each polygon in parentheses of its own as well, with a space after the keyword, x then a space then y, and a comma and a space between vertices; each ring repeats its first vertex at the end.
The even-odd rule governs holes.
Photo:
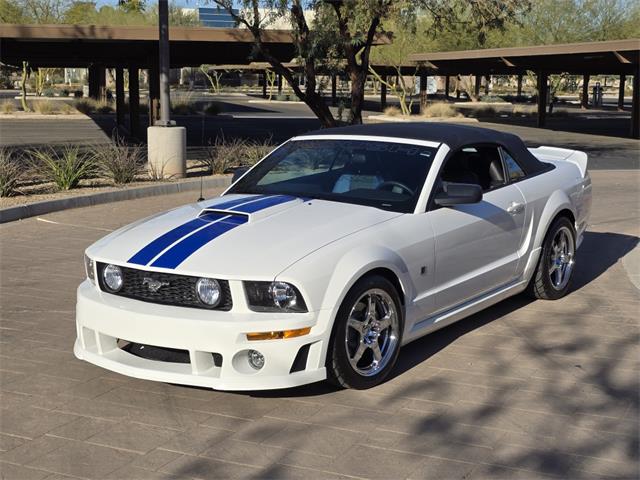
POLYGON ((574 271, 576 251, 576 232, 571 221, 564 216, 556 218, 551 227, 547 231, 542 244, 542 251, 540 252, 540 259, 536 266, 536 271, 527 286, 526 293, 533 297, 542 300, 557 300, 564 297, 571 288, 571 280, 574 271), (571 258, 569 259, 570 269, 568 271, 568 279, 566 282, 562 282, 561 285, 554 285, 554 281, 551 278, 550 265, 554 265, 554 239, 557 238, 560 232, 568 232, 568 239, 570 246, 568 248, 571 251, 571 258))

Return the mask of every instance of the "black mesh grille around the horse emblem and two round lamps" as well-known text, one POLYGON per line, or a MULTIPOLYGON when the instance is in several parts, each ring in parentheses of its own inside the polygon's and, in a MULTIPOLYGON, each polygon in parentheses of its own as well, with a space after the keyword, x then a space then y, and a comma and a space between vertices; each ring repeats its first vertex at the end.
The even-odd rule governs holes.
POLYGON ((229 282, 226 280, 218 280, 222 298, 220 303, 212 308, 205 305, 198 299, 198 295, 196 294, 196 282, 199 277, 148 272, 145 270, 137 270, 135 268, 127 267, 120 267, 124 276, 122 288, 117 292, 111 292, 105 286, 102 278, 102 271, 105 266, 106 264, 104 263, 98 263, 98 281, 100 289, 112 295, 134 298, 136 300, 142 300, 143 302, 205 308, 208 310, 231 310, 231 306, 233 305, 231 301, 231 291, 229 290, 229 282), (153 292, 149 289, 149 280, 145 282, 145 279, 164 282, 167 283, 167 285, 162 285, 158 291, 153 292))

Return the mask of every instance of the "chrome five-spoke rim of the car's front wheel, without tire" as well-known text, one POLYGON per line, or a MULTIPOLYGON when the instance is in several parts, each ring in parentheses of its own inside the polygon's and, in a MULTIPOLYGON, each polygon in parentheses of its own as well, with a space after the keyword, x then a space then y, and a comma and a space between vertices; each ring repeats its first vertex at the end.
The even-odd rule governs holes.
POLYGON ((398 313, 380 289, 365 292, 351 308, 345 332, 349 363, 369 377, 387 366, 398 342, 398 313))

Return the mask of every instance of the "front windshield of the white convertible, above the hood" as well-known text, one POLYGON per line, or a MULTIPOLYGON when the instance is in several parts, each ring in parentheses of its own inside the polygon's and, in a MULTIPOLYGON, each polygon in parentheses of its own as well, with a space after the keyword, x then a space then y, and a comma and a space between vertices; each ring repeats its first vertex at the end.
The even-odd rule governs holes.
POLYGON ((384 141, 295 140, 228 193, 296 195, 411 213, 436 150, 384 141))

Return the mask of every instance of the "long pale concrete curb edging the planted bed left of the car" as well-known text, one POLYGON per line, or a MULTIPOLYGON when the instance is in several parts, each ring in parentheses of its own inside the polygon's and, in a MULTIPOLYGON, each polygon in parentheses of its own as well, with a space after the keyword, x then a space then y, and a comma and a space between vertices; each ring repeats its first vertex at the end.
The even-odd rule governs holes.
MULTIPOLYGON (((219 176, 204 179, 202 188, 227 187, 231 185, 231 175, 219 176)), ((123 190, 112 190, 109 192, 92 193, 77 197, 57 198, 55 200, 44 200, 29 205, 18 205, 15 207, 0 209, 0 223, 14 222, 24 218, 44 215, 46 213, 67 210, 70 208, 90 207, 103 203, 120 202, 122 200, 133 200, 136 198, 153 197, 155 195, 171 195, 172 193, 189 192, 200 189, 200 179, 186 180, 180 182, 163 183, 160 185, 150 185, 148 187, 136 187, 123 190)), ((194 197, 195 200, 195 197, 194 197)))

